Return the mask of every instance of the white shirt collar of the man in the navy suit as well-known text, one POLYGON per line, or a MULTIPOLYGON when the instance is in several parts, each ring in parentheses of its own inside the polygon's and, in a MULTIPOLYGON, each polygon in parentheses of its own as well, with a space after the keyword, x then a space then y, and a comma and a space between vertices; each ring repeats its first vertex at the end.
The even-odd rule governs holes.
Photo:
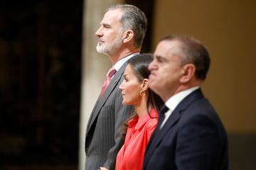
POLYGON ((193 91, 196 91, 197 89, 199 89, 199 86, 194 86, 194 87, 191 87, 190 89, 186 89, 184 91, 178 92, 178 94, 174 94, 174 96, 171 96, 171 98, 169 98, 166 101, 165 105, 171 111, 174 111, 174 109, 178 106, 178 103, 181 103, 183 98, 186 98, 188 94, 191 94, 193 91))

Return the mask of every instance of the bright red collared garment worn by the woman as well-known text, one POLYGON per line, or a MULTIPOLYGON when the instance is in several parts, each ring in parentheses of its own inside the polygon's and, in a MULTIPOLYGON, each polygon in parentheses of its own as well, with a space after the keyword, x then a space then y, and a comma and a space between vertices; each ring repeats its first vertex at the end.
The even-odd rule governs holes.
POLYGON ((144 114, 140 119, 136 116, 129 120, 124 145, 117 154, 116 170, 142 169, 146 145, 158 120, 158 113, 154 109, 149 114, 144 114))

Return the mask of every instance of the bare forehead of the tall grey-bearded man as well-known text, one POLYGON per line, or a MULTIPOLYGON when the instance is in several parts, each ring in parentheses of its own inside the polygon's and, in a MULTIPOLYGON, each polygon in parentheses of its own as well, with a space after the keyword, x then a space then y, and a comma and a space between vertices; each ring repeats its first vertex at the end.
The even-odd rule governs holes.
POLYGON ((102 18, 101 23, 107 24, 117 24, 120 23, 120 18, 122 16, 123 11, 119 8, 107 11, 102 18))

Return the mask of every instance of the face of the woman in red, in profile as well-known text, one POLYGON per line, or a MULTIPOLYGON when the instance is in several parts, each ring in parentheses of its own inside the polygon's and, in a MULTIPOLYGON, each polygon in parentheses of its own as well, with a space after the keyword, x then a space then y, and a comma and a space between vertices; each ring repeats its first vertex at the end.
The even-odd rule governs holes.
POLYGON ((142 96, 139 95, 139 92, 142 91, 142 85, 143 82, 137 79, 131 65, 128 64, 124 71, 124 81, 119 86, 119 89, 122 91, 122 104, 139 105, 142 101, 142 96))

